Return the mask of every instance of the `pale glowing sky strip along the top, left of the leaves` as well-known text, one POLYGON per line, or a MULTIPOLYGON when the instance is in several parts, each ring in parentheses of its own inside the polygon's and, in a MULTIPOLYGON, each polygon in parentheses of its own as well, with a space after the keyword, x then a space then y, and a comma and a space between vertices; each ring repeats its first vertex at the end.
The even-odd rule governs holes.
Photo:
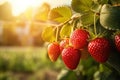
POLYGON ((51 7, 70 4, 71 0, 6 0, 12 5, 13 15, 17 16, 24 12, 29 7, 37 7, 44 2, 47 2, 51 7))

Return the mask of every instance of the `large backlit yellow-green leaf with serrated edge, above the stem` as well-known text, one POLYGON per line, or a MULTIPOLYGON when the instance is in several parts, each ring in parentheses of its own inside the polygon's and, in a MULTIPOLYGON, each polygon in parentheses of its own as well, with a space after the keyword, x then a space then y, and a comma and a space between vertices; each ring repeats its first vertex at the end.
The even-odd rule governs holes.
POLYGON ((62 6, 53 8, 49 13, 48 19, 61 23, 70 19, 71 16, 72 10, 68 6, 62 6))

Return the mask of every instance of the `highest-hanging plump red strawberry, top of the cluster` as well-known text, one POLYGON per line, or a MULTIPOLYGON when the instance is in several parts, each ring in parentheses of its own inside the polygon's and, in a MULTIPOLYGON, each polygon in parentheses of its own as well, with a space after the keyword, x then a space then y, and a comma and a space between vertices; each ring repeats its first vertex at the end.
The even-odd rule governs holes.
POLYGON ((70 35, 70 42, 75 49, 82 49, 87 45, 89 33, 84 29, 76 29, 70 35))

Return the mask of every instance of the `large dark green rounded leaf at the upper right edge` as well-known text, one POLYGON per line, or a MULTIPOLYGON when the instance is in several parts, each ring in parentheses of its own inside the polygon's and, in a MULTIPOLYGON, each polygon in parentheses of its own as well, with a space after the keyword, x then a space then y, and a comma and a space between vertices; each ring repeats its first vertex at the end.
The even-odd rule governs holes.
POLYGON ((120 30, 120 6, 103 5, 100 24, 108 30, 120 30))

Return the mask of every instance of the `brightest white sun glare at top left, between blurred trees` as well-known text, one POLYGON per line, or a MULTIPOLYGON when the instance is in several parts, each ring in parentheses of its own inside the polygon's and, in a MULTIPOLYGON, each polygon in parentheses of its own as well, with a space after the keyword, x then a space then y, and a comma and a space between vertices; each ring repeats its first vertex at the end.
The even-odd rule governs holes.
POLYGON ((12 5, 13 15, 17 16, 29 7, 36 7, 44 0, 8 0, 12 5))

